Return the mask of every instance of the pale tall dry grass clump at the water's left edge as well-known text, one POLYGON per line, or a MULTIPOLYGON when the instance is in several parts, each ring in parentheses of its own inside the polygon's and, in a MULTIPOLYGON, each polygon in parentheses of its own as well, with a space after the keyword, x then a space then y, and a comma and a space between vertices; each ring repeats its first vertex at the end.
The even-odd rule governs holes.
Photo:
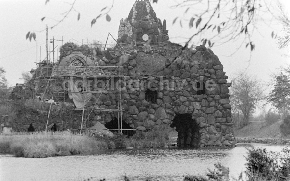
POLYGON ((36 132, 0 135, 0 152, 28 158, 88 154, 104 149, 103 141, 69 132, 36 132))

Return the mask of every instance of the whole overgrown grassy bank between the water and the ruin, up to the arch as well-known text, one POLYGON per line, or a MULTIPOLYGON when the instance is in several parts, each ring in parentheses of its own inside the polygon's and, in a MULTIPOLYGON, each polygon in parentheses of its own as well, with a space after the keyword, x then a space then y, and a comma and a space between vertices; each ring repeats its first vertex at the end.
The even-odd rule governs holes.
POLYGON ((36 132, 0 135, 0 153, 19 157, 46 158, 89 154, 99 149, 162 148, 167 146, 166 131, 151 131, 126 137, 122 134, 79 135, 69 132, 36 132))

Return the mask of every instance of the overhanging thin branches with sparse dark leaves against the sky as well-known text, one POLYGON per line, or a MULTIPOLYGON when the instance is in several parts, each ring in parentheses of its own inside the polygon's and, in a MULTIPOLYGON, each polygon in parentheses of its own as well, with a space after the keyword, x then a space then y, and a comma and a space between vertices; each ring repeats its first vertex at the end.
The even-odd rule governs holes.
MULTIPOLYGON (((158 3, 158 0, 150 0, 153 3, 158 3)), ((75 13, 77 20, 81 17, 81 12, 75 7, 76 0, 72 0, 70 7, 66 12, 61 13, 61 18, 55 25, 65 20, 70 13, 75 13)), ((274 16, 273 1, 258 1, 258 0, 183 0, 176 1, 177 3, 172 8, 182 8, 179 16, 173 20, 173 24, 179 22, 180 26, 187 24, 189 28, 195 28, 193 34, 189 38, 184 47, 198 35, 202 37, 201 42, 209 47, 213 46, 216 42, 226 43, 229 41, 236 41, 241 36, 243 41, 240 47, 244 45, 250 51, 255 49, 255 44, 251 40, 253 33, 258 30, 257 24, 264 23, 268 25, 264 19, 267 16, 277 18, 274 16)), ((49 0, 45 3, 48 5, 49 0)), ((111 20, 109 16, 110 10, 113 8, 114 1, 108 2, 108 6, 102 8, 100 12, 93 13, 91 20, 91 27, 101 17, 105 17, 107 21, 111 20), (111 3, 111 4, 110 4, 111 3)), ((46 18, 41 18, 44 21, 46 18)), ((41 30, 44 31, 44 30, 41 30)), ((39 31, 39 32, 41 32, 39 31)), ((274 36, 274 31, 269 29, 269 35, 274 36)), ((277 35, 277 33, 275 33, 277 35)), ((26 39, 36 38, 34 31, 29 31, 26 34, 26 39)), ((239 48, 240 48, 239 47, 239 48)), ((238 49, 239 49, 238 48, 238 49)))

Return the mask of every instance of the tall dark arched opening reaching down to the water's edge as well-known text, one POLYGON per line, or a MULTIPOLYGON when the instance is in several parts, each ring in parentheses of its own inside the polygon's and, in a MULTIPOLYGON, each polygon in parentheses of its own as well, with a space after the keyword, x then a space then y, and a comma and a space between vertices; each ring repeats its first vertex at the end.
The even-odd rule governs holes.
POLYGON ((199 139, 199 126, 196 121, 191 118, 191 114, 177 113, 170 127, 176 127, 178 147, 191 147, 197 145, 199 139))

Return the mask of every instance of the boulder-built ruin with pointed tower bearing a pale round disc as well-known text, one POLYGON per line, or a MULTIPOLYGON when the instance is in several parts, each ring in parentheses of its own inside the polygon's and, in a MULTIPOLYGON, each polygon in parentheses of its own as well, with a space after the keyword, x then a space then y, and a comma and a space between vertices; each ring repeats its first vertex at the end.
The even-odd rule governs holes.
MULTIPOLYGON (((62 78, 50 85, 56 92, 67 86, 70 76, 74 81, 87 76, 92 91, 86 105, 93 110, 90 126, 116 121, 117 112, 110 110, 117 109, 121 100, 122 123, 128 128, 176 128, 179 146, 236 145, 228 89, 231 84, 213 51, 202 45, 193 50, 171 43, 166 20, 162 23, 156 17, 148 0, 136 1, 129 16, 120 21, 117 42, 103 54, 94 48, 82 53, 75 50, 85 47, 65 44, 52 71, 52 76, 62 78), (118 89, 118 73, 122 75, 121 99, 112 93, 118 89)), ((78 88, 84 89, 82 85, 78 88)), ((68 96, 64 100, 71 101, 68 96)))

